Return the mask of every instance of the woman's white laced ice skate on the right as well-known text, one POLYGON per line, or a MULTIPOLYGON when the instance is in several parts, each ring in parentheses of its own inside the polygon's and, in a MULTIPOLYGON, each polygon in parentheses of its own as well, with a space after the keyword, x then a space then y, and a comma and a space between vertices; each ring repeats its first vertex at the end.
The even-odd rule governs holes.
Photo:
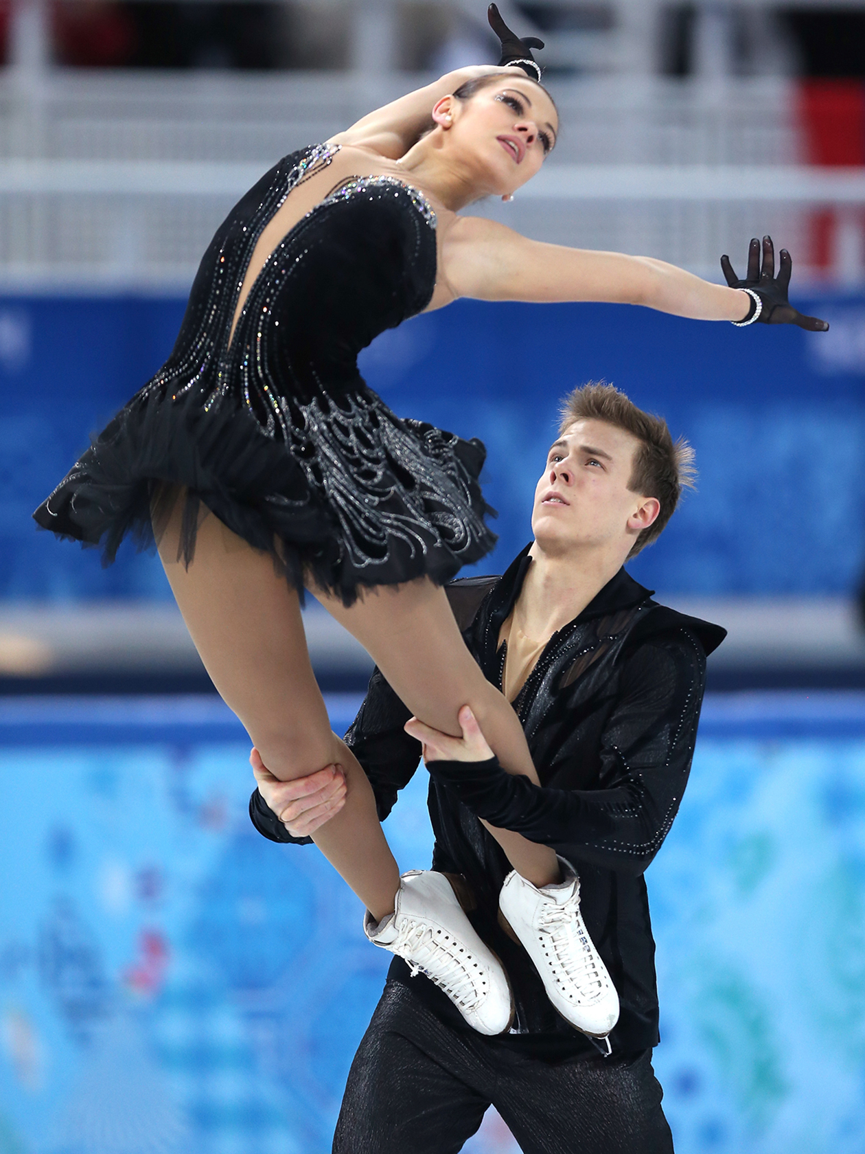
POLYGON ((509 874, 499 909, 558 1013, 603 1040, 618 1021, 618 995, 580 914, 580 879, 569 862, 558 861, 564 875, 558 885, 539 889, 516 870, 509 874))

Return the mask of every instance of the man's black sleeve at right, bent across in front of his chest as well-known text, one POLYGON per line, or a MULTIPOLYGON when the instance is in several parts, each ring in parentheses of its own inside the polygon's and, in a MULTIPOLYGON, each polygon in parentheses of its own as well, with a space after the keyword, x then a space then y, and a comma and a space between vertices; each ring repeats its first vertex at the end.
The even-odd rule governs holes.
POLYGON ((702 647, 685 630, 634 650, 601 735, 597 789, 535 786, 505 773, 495 758, 431 762, 428 769, 491 825, 552 846, 569 861, 641 874, 682 801, 705 675, 702 647))

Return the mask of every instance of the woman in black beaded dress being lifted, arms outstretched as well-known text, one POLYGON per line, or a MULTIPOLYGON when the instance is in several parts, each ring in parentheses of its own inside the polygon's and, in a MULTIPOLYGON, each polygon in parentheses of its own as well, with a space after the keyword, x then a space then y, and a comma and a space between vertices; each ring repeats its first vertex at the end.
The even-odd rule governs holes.
MULTIPOLYGON (((517 715, 469 655, 441 587, 495 541, 477 482, 483 447, 394 417, 356 355, 385 328, 460 297, 825 324, 788 305, 790 257, 782 252, 775 279, 768 239, 762 275, 753 241, 747 280, 730 270, 732 287, 721 287, 661 261, 536 243, 458 216, 482 196, 509 200, 558 130, 532 44, 495 6, 490 22, 499 67, 443 76, 287 156, 242 197, 202 260, 171 357, 35 516, 103 545, 108 561, 127 533, 156 540, 204 666, 268 770, 291 780, 340 767, 345 805, 314 840, 367 907, 370 938, 497 1033, 509 1025, 506 977, 443 875, 400 883, 303 636, 306 586, 418 718, 458 735, 468 704, 501 763, 537 784, 517 715)), ((549 847, 494 835, 539 890, 569 884, 549 847)), ((591 943, 574 926, 564 964, 585 984, 591 943)), ((579 1012, 574 1024, 585 1025, 579 1012)))

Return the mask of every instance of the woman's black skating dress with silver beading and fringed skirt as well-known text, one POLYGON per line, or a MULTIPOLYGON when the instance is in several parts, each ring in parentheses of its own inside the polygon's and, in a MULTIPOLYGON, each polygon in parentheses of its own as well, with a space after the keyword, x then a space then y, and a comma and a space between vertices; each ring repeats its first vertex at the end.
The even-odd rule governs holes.
POLYGON ((287 233, 228 343, 256 241, 338 145, 280 160, 231 211, 193 284, 171 357, 42 504, 36 520, 101 545, 152 544, 163 482, 188 489, 182 548, 203 502, 231 530, 348 605, 359 586, 442 584, 495 544, 484 449, 397 418, 358 353, 420 313, 436 280, 436 217, 392 177, 352 178, 287 233))

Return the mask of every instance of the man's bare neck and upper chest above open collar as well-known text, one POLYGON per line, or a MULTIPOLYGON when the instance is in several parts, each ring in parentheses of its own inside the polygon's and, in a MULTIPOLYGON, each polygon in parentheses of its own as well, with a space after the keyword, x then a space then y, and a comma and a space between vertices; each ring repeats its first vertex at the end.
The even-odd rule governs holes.
POLYGON ((618 556, 550 556, 534 542, 514 615, 524 634, 546 640, 578 617, 622 568, 618 556))

